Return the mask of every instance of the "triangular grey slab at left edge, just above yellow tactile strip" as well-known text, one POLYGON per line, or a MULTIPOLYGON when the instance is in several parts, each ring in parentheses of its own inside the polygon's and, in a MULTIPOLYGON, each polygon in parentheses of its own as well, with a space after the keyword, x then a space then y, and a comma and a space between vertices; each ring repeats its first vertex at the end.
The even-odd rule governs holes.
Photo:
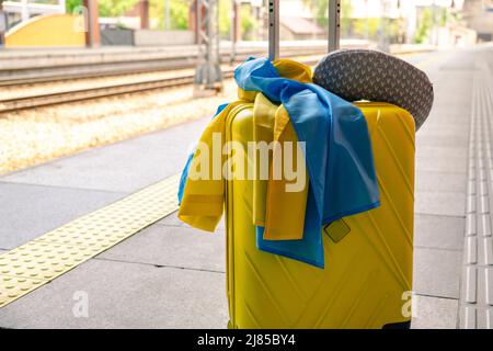
POLYGON ((5 183, 0 180, 0 248, 13 249, 124 197, 125 193, 5 183))

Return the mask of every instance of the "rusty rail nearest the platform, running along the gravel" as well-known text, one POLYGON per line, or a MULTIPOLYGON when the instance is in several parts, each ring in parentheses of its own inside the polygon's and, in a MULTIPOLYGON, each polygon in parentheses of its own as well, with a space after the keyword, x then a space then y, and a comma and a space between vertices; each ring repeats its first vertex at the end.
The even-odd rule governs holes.
MULTIPOLYGON (((314 65, 318 59, 307 58, 301 60, 306 65, 314 65)), ((225 78, 233 76, 233 69, 222 70, 225 78)), ((68 102, 87 101, 91 99, 121 95, 126 93, 136 93, 154 89, 175 88, 192 84, 195 75, 187 73, 160 79, 147 79, 136 82, 105 84, 93 88, 71 89, 60 92, 42 93, 25 97, 15 97, 12 99, 0 99, 0 114, 20 110, 35 109, 47 105, 57 105, 68 102)))

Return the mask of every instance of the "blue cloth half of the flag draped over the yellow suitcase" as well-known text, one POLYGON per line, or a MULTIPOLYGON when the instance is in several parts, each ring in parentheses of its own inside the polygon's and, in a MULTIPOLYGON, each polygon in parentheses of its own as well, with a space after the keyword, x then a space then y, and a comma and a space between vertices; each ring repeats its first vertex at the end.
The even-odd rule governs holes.
MULTIPOLYGON (((234 71, 240 88, 283 103, 300 141, 309 174, 303 238, 264 240, 260 250, 324 267, 322 227, 380 205, 368 127, 362 111, 321 87, 279 77, 266 58, 250 58, 234 71)), ((182 176, 186 180, 187 167, 182 176)))

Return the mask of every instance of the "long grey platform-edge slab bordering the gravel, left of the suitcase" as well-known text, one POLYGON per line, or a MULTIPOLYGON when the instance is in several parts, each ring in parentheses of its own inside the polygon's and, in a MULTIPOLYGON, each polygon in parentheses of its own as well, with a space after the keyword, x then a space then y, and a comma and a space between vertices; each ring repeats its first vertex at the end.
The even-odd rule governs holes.
POLYGON ((188 149, 207 123, 202 118, 126 141, 90 149, 2 178, 90 190, 135 192, 181 171, 188 149))

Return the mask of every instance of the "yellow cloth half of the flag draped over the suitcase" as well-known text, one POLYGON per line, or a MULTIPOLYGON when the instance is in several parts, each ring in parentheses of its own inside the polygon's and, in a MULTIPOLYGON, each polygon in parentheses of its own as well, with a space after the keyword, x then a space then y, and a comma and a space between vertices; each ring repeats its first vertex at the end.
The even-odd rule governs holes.
MULTIPOLYGON (((282 77, 295 79, 300 82, 312 81, 311 69, 302 64, 289 59, 280 59, 274 63, 274 67, 282 77)), ((293 141, 293 160, 296 169, 297 152, 300 151, 296 148, 298 138, 284 106, 273 104, 260 92, 238 89, 238 98, 239 101, 229 104, 219 115, 210 121, 200 137, 200 143, 207 146, 208 150, 213 150, 214 147, 220 147, 222 150, 226 143, 225 128, 227 116, 234 107, 244 105, 245 102, 254 102, 254 140, 265 141, 267 144, 272 140, 277 140, 282 146, 286 141, 293 141), (220 145, 213 147, 215 143, 213 138, 214 133, 220 133, 222 137, 220 145)), ((282 149, 284 150, 284 147, 282 149)), ((274 152, 272 149, 268 151, 268 159, 271 161, 277 151, 278 149, 274 149, 274 152)), ((217 178, 217 174, 213 174, 214 157, 211 155, 208 157, 208 169, 204 170, 198 167, 203 162, 203 156, 205 156, 202 152, 200 149, 197 149, 192 160, 188 179, 179 210, 179 218, 193 227, 214 231, 222 216, 225 182, 222 174, 220 179, 217 178), (202 174, 203 177, 192 179, 191 174, 202 174)), ((259 156, 257 152, 259 149, 255 150, 256 156, 259 156)), ((223 165, 225 159, 226 157, 222 156, 221 165, 223 165)), ((222 170, 222 167, 220 169, 222 170)), ((267 171, 268 180, 261 180, 261 169, 256 165, 256 180, 253 182, 253 224, 265 227, 264 239, 301 239, 308 195, 308 174, 305 177, 306 185, 303 191, 286 192, 286 184, 291 181, 286 179, 274 180, 272 177, 272 167, 267 171)))

